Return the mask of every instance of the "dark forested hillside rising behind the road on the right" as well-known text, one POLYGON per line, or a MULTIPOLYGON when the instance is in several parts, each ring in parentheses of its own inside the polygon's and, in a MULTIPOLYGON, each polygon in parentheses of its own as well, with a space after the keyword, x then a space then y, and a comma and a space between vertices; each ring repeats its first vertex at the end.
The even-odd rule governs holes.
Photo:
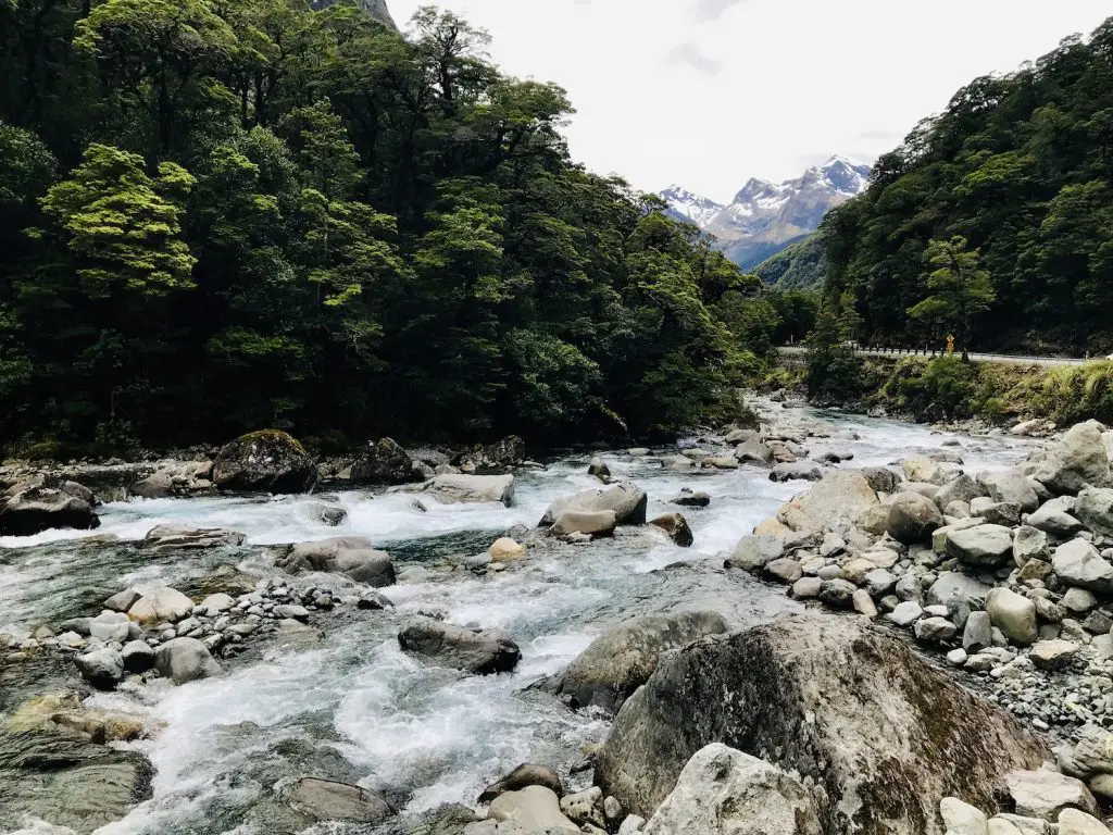
POLYGON ((1113 351, 1113 19, 959 90, 820 236, 863 341, 1113 351))

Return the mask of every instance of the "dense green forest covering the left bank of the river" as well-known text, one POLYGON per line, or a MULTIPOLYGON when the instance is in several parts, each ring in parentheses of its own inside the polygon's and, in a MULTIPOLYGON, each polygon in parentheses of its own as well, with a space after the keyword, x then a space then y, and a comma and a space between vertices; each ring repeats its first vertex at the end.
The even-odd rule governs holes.
POLYGON ((297 2, 0 0, 9 451, 644 436, 810 326, 573 164, 483 31, 297 2))

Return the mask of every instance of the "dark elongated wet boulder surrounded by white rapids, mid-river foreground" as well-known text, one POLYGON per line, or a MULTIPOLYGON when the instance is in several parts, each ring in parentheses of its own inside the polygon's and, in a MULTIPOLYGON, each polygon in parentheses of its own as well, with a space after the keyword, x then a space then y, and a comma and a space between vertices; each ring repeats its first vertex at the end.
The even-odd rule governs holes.
POLYGON ((425 617, 410 618, 403 625, 398 645, 445 667, 481 676, 510 672, 522 658, 518 644, 498 629, 480 631, 425 617))

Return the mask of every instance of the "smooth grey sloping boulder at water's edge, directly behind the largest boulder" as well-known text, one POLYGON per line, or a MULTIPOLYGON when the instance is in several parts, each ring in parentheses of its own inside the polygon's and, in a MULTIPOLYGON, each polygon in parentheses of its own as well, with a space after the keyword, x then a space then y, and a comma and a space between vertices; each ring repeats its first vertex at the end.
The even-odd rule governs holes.
POLYGON ((595 638, 563 672, 543 679, 538 687, 575 708, 595 706, 614 711, 646 684, 666 652, 705 635, 726 631, 727 621, 716 612, 642 615, 595 638))

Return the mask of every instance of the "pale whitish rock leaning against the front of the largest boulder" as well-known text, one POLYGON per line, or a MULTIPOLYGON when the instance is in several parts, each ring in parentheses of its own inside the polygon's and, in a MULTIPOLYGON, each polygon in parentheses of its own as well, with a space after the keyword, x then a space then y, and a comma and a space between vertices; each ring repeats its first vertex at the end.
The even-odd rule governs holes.
POLYGON ((821 835, 796 777, 718 743, 692 755, 646 835, 821 835))

